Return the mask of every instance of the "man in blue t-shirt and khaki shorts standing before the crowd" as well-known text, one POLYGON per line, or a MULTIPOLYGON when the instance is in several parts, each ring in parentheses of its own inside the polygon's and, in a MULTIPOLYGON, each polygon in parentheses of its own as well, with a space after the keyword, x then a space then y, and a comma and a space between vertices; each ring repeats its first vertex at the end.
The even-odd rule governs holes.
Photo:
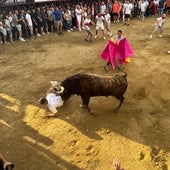
POLYGON ((62 12, 59 10, 58 7, 56 7, 53 14, 54 14, 54 24, 55 24, 55 27, 57 28, 58 35, 63 34, 62 12))

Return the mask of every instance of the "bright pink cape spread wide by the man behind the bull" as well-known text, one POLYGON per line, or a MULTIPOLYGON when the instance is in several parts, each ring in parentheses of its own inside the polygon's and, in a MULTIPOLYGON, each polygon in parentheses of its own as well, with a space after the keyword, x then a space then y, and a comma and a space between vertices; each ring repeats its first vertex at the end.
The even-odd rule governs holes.
POLYGON ((123 38, 118 43, 114 43, 113 41, 109 40, 100 56, 106 62, 110 62, 112 67, 115 68, 116 60, 118 60, 120 64, 128 63, 129 57, 131 57, 133 54, 134 51, 131 48, 128 40, 123 38))

